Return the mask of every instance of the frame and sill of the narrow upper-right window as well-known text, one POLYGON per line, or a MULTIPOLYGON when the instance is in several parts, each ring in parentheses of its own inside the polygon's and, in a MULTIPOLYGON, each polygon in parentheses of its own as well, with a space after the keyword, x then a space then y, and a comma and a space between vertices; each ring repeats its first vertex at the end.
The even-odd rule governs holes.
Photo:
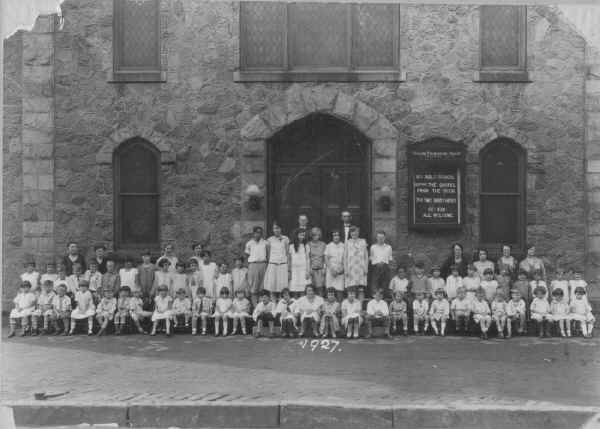
POLYGON ((531 82, 527 71, 527 6, 525 5, 480 5, 479 6, 479 70, 475 72, 476 82, 531 82), (519 52, 518 65, 484 66, 483 65, 483 14, 485 7, 503 6, 518 8, 519 52))

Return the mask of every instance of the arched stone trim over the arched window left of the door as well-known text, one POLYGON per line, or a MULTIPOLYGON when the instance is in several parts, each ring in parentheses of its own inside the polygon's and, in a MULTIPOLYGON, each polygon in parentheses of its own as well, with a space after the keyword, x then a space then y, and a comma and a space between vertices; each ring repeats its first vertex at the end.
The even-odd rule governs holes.
POLYGON ((143 127, 119 128, 115 130, 111 136, 106 139, 106 142, 96 154, 97 164, 112 164, 113 153, 115 149, 123 142, 134 137, 142 138, 153 144, 160 152, 161 164, 172 164, 175 162, 175 151, 168 142, 167 138, 152 129, 143 127))

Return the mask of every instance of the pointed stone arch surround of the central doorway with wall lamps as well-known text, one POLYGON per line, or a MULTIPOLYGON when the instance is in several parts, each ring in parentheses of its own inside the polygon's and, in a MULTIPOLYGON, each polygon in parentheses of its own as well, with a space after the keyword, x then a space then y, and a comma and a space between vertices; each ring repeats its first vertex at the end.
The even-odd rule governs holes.
POLYGON ((384 229, 393 240, 396 236, 398 131, 383 114, 352 95, 323 85, 307 87, 299 84, 290 86, 281 101, 270 104, 241 129, 243 204, 241 221, 233 226, 233 235, 241 238, 253 226, 266 227, 266 141, 286 125, 311 113, 325 113, 342 119, 371 141, 371 184, 366 190, 371 194, 371 230, 384 229), (253 185, 263 196, 263 204, 258 210, 250 210, 247 204, 246 190, 253 185), (392 197, 390 211, 378 210, 377 200, 382 193, 392 197))

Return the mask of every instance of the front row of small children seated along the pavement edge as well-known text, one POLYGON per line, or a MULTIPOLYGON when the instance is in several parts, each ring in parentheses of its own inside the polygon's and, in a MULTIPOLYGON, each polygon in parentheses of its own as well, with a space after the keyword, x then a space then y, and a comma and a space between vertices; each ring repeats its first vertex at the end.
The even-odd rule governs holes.
POLYGON ((154 298, 154 310, 147 311, 144 309, 141 292, 135 291, 133 296, 130 296, 131 290, 128 286, 121 287, 117 297, 114 291, 104 290, 104 296, 95 305, 89 283, 84 280, 80 282, 79 290, 75 293, 75 308, 71 310, 71 298, 66 293, 65 285, 60 284, 54 291, 52 282, 45 282, 42 291, 36 295, 31 291, 30 282, 24 281, 14 299, 15 308, 10 313, 9 337, 15 335, 19 321, 22 336, 28 332, 32 335, 47 334, 50 324, 54 327, 55 335, 72 335, 80 320, 87 321, 88 335, 92 335, 94 318, 100 326, 97 335, 105 334, 110 323, 114 324, 115 333, 119 335, 129 320, 138 332, 147 333, 141 323, 145 319, 152 322, 150 335, 156 335, 161 321, 164 321, 167 336, 171 335, 172 328, 179 326, 191 326, 192 334, 196 335, 199 322, 201 334, 206 335, 209 319, 213 321, 216 336, 221 333, 227 336, 230 332, 230 322, 232 333, 239 332, 241 328, 241 334, 246 335, 248 321, 253 319, 257 324, 258 335, 263 326, 268 326, 272 336, 277 323, 281 326, 284 337, 297 334, 335 337, 336 332, 343 327, 348 338, 358 338, 359 328, 364 324, 367 338, 372 335, 375 325, 383 326, 384 333, 389 337, 391 333, 396 332, 407 335, 409 316, 412 316, 415 334, 426 333, 431 326, 435 335, 444 336, 448 321, 453 320, 457 333, 464 335, 472 320, 480 327, 483 339, 487 339, 491 325, 496 326, 499 338, 505 338, 505 332, 506 338, 510 338, 513 323, 516 324, 517 333, 524 334, 526 321, 529 319, 540 337, 550 336, 550 327, 553 324, 557 325, 557 332, 560 331, 561 336, 570 337, 571 325, 574 322, 582 335, 589 338, 595 321, 591 306, 585 297, 585 289, 582 287, 575 289, 575 299, 570 303, 567 303, 562 289, 553 290, 552 301, 548 302, 545 297, 546 289, 537 287, 533 291, 535 298, 529 308, 518 289, 511 291, 508 301, 505 300, 503 292, 498 290, 488 302, 483 288, 479 288, 475 297, 470 298, 466 289, 459 287, 456 298, 450 303, 444 289, 439 288, 435 290, 431 304, 424 292, 417 291, 410 304, 412 311, 408 311, 409 304, 402 292, 394 293, 390 304, 383 299, 381 289, 376 290, 374 298, 368 302, 364 297, 364 290, 359 288, 358 292, 356 296, 354 288, 347 289, 347 298, 340 305, 334 289, 327 290, 325 300, 315 294, 311 285, 306 287, 306 294, 296 300, 290 298, 287 289, 282 291, 278 300, 268 291, 263 291, 260 301, 251 312, 250 301, 245 297, 243 290, 236 291, 234 299, 231 299, 229 289, 223 287, 220 297, 213 302, 206 296, 203 287, 197 289, 196 296, 191 300, 187 297, 185 289, 177 290, 175 298, 172 298, 169 288, 161 285, 154 298))

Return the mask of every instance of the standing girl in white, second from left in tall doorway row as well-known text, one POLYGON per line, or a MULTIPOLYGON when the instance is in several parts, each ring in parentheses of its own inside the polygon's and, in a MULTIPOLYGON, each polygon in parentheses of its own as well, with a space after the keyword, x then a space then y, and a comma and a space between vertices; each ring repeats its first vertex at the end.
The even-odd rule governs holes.
POLYGON ((267 239, 267 271, 264 289, 281 292, 288 287, 288 250, 290 240, 281 234, 281 228, 273 224, 273 235, 267 239))

